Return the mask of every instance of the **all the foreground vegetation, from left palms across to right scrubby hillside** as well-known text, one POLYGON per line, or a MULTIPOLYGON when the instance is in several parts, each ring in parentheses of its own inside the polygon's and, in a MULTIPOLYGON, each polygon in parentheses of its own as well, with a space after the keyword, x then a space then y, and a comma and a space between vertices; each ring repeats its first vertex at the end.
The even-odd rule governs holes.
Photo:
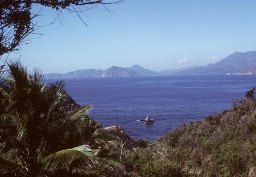
POLYGON ((0 87, 1 176, 255 176, 255 89, 233 109, 183 124, 154 143, 102 128, 63 82, 9 64, 0 87))

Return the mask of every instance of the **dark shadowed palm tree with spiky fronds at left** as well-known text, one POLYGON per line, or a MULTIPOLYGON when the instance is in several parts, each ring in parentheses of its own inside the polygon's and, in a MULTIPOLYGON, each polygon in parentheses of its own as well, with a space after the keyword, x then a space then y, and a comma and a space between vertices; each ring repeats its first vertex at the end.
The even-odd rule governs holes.
POLYGON ((67 115, 60 107, 66 92, 62 81, 46 84, 40 70, 28 74, 20 62, 8 66, 9 76, 0 85, 0 173, 49 175, 99 165, 89 145, 70 143, 91 107, 67 115))

